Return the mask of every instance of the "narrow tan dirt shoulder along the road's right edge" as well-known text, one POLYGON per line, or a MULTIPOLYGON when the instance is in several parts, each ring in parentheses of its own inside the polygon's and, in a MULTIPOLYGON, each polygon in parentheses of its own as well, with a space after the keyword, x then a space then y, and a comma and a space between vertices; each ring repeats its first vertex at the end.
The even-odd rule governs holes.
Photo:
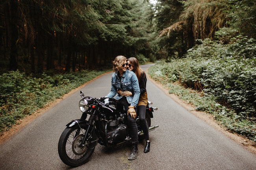
POLYGON ((158 88, 164 91, 165 94, 168 95, 171 99, 173 99, 175 102, 177 102, 182 107, 184 107, 188 112, 193 113, 196 117, 208 123, 209 125, 213 126, 213 128, 223 133, 224 135, 226 135, 227 137, 229 137, 239 145, 243 146, 245 149, 249 150, 253 154, 256 154, 256 146, 253 146, 252 142, 249 139, 246 139, 240 135, 237 135, 236 133, 228 132, 227 130, 225 130, 225 128, 223 128, 214 120, 213 115, 196 111, 195 107, 192 104, 189 104, 188 102, 179 99, 178 96, 174 94, 169 94, 168 90, 164 88, 162 84, 153 80, 148 74, 147 74, 147 78, 150 79, 156 86, 158 86, 158 88))

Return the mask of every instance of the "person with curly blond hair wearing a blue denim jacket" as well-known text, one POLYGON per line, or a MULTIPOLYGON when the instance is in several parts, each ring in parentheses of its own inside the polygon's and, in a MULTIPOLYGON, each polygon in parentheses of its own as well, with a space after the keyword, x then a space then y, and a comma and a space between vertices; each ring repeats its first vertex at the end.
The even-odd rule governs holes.
POLYGON ((137 158, 138 155, 138 128, 135 121, 137 104, 139 101, 139 82, 133 71, 126 70, 127 58, 119 55, 113 61, 113 74, 111 78, 111 91, 106 97, 118 100, 124 105, 127 112, 127 122, 130 135, 132 138, 132 152, 128 156, 129 160, 137 158), (129 95, 119 95, 118 90, 129 92, 129 95))

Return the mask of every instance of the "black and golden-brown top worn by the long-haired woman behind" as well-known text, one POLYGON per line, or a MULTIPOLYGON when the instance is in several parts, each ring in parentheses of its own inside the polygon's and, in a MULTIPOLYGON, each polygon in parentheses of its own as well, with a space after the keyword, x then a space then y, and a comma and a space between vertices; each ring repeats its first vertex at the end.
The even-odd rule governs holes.
POLYGON ((148 104, 148 94, 146 90, 147 77, 145 72, 141 72, 141 78, 139 79, 139 90, 141 92, 139 96, 138 106, 147 106, 148 104))

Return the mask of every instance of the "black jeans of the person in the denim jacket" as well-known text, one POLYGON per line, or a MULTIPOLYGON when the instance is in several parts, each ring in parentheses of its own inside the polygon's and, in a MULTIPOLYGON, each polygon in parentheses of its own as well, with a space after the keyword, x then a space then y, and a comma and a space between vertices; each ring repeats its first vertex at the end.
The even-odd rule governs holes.
MULTIPOLYGON (((122 97, 121 99, 119 99, 119 102, 124 105, 124 108, 126 110, 127 124, 129 128, 130 136, 132 137, 132 144, 137 144, 139 143, 139 141, 138 141, 138 128, 137 128, 136 120, 133 119, 130 114, 127 115, 127 111, 129 109, 128 106, 130 106, 130 104, 126 100, 126 97, 122 97)), ((134 108, 134 109, 135 109, 135 112, 137 112, 137 108, 134 108)))

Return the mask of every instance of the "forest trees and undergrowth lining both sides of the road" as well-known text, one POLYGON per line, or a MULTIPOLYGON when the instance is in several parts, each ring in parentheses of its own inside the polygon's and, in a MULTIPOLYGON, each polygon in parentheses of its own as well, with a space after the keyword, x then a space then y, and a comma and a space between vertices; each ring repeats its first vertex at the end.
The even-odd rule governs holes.
POLYGON ((194 90, 198 100, 184 100, 256 141, 254 0, 3 0, 0 9, 0 133, 124 55, 156 62, 149 74, 170 93, 194 90))

